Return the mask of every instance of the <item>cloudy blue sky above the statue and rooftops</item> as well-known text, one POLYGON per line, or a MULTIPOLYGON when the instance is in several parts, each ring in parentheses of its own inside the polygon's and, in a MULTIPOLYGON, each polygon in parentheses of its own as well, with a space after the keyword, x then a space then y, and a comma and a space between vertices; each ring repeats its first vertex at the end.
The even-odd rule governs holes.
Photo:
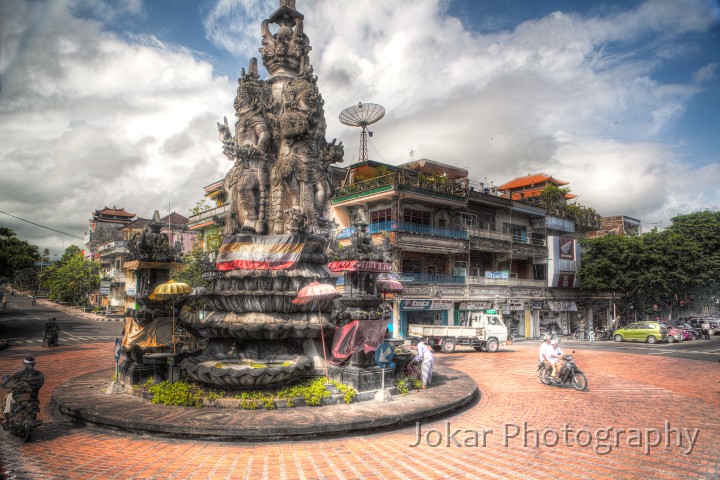
MULTIPOLYGON (((185 216, 230 165, 240 69, 278 0, 0 3, 0 225, 61 253, 91 212, 185 216)), ((328 140, 371 159, 544 172, 644 228, 720 209, 716 0, 297 0, 328 140)), ((264 70, 262 75, 266 75, 264 70)))

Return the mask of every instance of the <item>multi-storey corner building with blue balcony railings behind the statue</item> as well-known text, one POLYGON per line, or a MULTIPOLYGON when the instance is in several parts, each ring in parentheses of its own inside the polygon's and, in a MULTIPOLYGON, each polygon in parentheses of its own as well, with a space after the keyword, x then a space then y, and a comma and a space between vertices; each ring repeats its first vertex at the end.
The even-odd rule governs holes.
MULTIPOLYGON (((545 177, 545 184, 567 184, 545 177)), ((607 299, 579 293, 583 233, 562 211, 548 214, 538 195, 513 199, 470 181, 465 169, 428 159, 400 166, 367 160, 334 169, 333 178, 341 246, 359 219, 369 223, 374 243, 392 245, 404 288, 387 295, 396 336, 410 324, 461 325, 471 311, 502 313, 520 337, 537 337, 541 327, 571 333, 585 320, 610 321, 607 299)), ((192 215, 188 227, 210 250, 221 241, 214 219, 229 209, 222 180, 205 187, 205 197, 214 206, 192 215)))

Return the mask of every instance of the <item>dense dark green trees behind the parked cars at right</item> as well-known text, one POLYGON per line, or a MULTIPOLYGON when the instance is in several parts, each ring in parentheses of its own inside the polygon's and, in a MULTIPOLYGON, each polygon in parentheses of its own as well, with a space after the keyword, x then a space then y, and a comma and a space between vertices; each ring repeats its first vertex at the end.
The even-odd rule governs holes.
POLYGON ((664 231, 581 244, 582 288, 614 292, 625 308, 660 314, 685 299, 705 304, 720 286, 720 212, 679 215, 664 231))

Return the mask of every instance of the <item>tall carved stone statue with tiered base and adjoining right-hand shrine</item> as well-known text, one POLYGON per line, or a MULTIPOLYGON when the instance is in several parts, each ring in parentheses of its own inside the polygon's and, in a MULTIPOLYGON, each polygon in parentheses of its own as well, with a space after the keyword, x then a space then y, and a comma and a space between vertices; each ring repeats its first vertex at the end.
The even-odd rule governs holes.
POLYGON ((234 125, 227 118, 218 123, 231 162, 224 179, 231 210, 206 272, 209 312, 179 316, 185 329, 207 340, 180 368, 207 385, 256 387, 320 376, 327 372, 326 350, 333 379, 360 391, 378 388, 371 352, 385 335, 389 312, 375 280, 392 263, 364 235, 362 219, 351 248, 332 242, 328 167, 342 162, 343 147, 325 139, 324 102, 303 20, 294 0, 281 0, 262 22, 260 53, 269 77, 260 79, 252 58, 238 79, 234 125), (335 285, 329 263, 344 272, 345 294, 293 302, 312 282, 335 285))

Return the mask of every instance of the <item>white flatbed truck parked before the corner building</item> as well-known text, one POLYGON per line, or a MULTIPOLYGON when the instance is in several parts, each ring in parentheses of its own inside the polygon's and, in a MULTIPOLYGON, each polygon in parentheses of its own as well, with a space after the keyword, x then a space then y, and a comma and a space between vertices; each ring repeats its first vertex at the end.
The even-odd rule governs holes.
POLYGON ((408 336, 414 343, 422 340, 436 352, 450 353, 455 345, 467 345, 475 350, 497 352, 507 344, 507 327, 497 315, 471 312, 467 326, 410 325, 408 336))

